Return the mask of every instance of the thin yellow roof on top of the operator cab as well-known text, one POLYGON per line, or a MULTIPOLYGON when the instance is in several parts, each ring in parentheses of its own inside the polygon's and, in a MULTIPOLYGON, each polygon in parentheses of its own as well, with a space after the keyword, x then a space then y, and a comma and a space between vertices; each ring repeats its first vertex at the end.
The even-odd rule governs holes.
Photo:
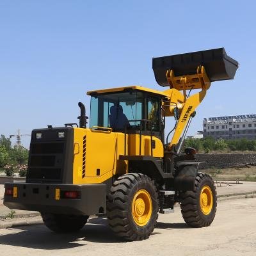
POLYGON ((169 97, 169 95, 167 93, 164 93, 164 92, 161 92, 158 90, 154 90, 154 89, 145 88, 145 87, 138 86, 138 85, 118 87, 118 88, 109 88, 109 89, 103 89, 103 90, 94 90, 94 91, 87 92, 87 95, 92 95, 94 93, 103 94, 103 93, 125 92, 126 90, 139 90, 141 92, 154 93, 161 97, 169 97))

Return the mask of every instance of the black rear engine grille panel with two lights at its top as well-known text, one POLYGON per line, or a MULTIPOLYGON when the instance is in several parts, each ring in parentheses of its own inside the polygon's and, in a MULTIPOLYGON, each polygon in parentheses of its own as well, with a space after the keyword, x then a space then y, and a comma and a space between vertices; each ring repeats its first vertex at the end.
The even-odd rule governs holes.
POLYGON ((31 134, 26 182, 72 184, 73 160, 73 127, 35 129, 31 134))

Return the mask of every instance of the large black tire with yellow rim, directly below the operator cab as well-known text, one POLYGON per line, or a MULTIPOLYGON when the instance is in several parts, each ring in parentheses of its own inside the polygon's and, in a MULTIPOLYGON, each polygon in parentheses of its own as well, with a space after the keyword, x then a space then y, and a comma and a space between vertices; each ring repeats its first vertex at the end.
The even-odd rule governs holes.
POLYGON ((107 215, 117 236, 129 241, 147 239, 156 226, 158 210, 156 186, 148 176, 129 173, 113 183, 107 215))

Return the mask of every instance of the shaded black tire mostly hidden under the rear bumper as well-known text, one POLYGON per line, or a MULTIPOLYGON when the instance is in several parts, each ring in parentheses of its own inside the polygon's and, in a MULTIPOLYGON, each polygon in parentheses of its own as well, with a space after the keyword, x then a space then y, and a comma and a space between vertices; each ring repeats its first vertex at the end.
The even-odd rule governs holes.
POLYGON ((42 213, 42 219, 47 228, 56 233, 75 232, 84 227, 89 216, 42 213))

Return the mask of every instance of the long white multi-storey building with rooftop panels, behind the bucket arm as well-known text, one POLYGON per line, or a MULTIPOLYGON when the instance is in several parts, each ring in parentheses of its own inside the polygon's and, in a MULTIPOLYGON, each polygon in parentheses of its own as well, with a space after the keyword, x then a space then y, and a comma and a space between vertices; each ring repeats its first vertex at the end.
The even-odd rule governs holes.
POLYGON ((220 116, 204 118, 204 137, 216 139, 256 139, 256 115, 220 116))

